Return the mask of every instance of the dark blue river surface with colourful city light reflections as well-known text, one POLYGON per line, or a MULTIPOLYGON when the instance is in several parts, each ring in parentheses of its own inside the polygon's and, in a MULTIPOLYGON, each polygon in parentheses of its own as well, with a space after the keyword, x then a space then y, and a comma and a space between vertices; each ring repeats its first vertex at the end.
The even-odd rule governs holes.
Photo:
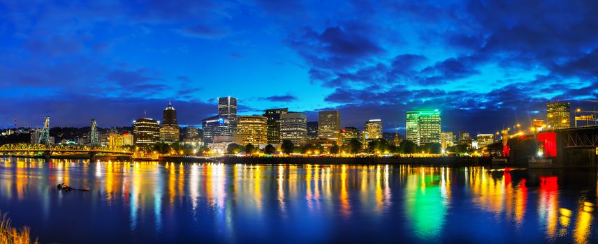
POLYGON ((0 161, 44 243, 598 241, 595 169, 0 161))

